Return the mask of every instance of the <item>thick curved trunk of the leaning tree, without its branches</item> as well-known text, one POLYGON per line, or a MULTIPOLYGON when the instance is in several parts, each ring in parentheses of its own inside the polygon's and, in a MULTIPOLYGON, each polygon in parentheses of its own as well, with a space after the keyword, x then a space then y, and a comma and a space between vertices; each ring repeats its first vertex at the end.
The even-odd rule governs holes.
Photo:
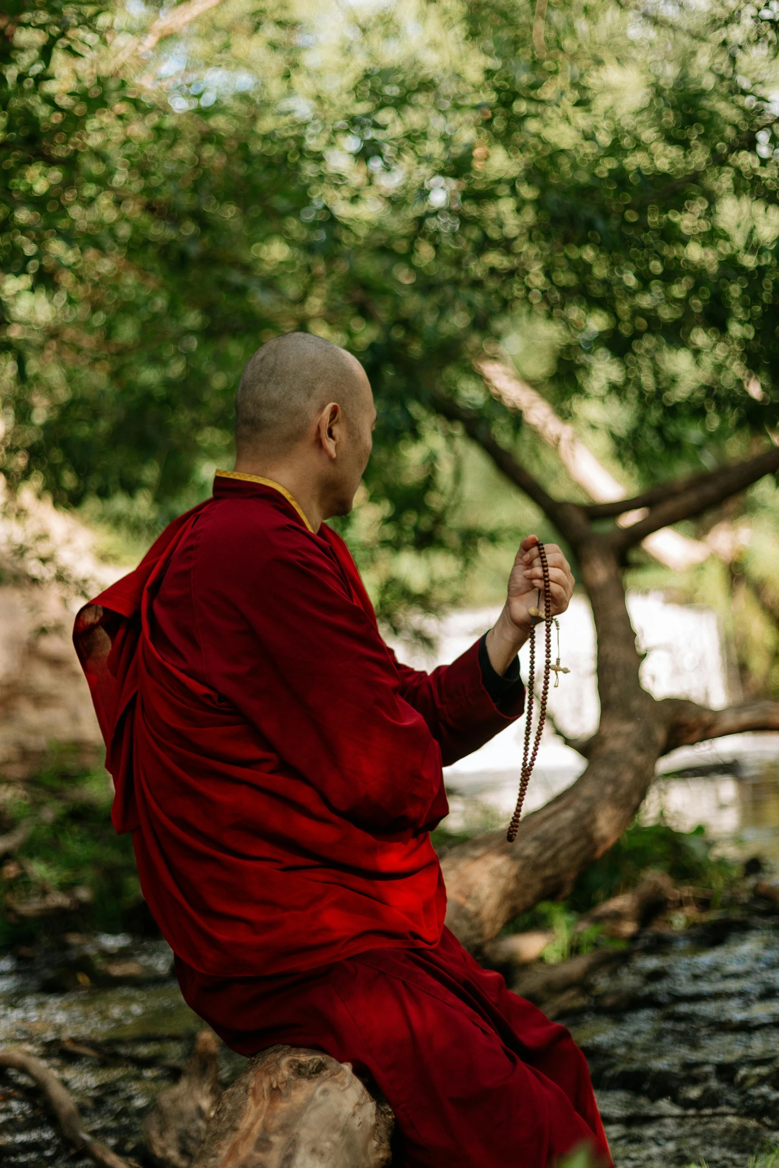
POLYGON ((471 950, 519 912, 563 894, 611 847, 640 807, 663 749, 662 707, 639 682, 615 555, 596 537, 583 547, 580 564, 598 634, 600 726, 582 777, 523 819, 514 843, 491 833, 444 857, 447 924, 471 950))

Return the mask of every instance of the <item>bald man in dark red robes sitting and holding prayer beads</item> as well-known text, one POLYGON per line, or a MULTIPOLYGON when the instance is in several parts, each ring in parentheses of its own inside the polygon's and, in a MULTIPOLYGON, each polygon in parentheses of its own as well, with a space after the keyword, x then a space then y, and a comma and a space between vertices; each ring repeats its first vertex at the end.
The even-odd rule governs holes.
MULTIPOLYGON (((376 419, 360 363, 292 333, 237 395, 235 471, 79 613, 75 642, 182 994, 243 1055, 375 1082, 409 1168, 610 1162, 568 1031, 444 925, 441 764, 520 716, 541 584, 523 540, 486 637, 431 674, 383 642, 346 544, 376 419)), ((551 598, 573 582, 548 545, 551 598)))

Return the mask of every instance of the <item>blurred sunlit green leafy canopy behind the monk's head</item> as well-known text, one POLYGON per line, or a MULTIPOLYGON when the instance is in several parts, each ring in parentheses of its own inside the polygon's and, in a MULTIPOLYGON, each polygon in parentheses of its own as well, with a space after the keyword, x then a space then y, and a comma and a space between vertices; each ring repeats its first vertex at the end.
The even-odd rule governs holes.
POLYGON ((549 9, 544 61, 533 12, 227 0, 118 68, 149 9, 9 0, 11 481, 162 522, 229 457, 243 361, 311 329, 374 383, 348 534, 397 617, 494 535, 462 520, 457 427, 436 412, 450 395, 521 440, 473 373, 485 349, 535 369, 635 485, 773 429, 774 0, 577 0, 549 9))

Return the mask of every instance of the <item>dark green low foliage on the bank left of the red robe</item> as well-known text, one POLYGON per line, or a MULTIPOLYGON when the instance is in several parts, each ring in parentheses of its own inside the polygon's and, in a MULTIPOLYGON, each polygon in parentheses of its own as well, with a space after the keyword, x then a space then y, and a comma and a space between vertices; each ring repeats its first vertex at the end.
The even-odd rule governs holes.
POLYGON ((6 828, 28 818, 35 827, 0 869, 6 905, 0 913, 0 945, 63 929, 145 930, 148 918, 132 840, 117 835, 111 825, 112 790, 106 773, 81 773, 62 759, 28 784, 26 792, 25 801, 4 805, 6 828), (26 917, 13 911, 15 902, 23 905, 53 891, 74 890, 81 903, 64 915, 26 917))

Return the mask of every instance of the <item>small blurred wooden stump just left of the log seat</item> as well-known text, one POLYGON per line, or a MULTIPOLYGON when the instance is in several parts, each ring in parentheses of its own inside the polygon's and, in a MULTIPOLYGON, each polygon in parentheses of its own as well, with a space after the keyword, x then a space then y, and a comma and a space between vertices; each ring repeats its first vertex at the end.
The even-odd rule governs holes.
POLYGON ((144 1120, 144 1136, 159 1168, 189 1168, 222 1094, 217 1056, 220 1040, 201 1030, 183 1075, 157 1098, 144 1120))

